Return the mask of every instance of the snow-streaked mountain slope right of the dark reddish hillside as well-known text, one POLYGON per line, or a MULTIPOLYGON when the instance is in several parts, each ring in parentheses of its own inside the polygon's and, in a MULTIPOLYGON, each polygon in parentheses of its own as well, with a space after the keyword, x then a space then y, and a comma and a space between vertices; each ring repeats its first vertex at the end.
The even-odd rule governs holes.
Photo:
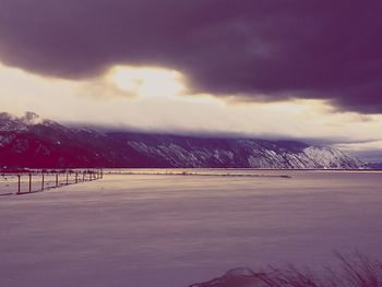
MULTIPOLYGON (((184 139, 184 137, 183 137, 184 139)), ((129 141, 140 154, 160 158, 172 167, 242 167, 297 169, 353 169, 365 164, 336 148, 307 146, 299 142, 251 139, 184 139, 183 142, 129 141)))

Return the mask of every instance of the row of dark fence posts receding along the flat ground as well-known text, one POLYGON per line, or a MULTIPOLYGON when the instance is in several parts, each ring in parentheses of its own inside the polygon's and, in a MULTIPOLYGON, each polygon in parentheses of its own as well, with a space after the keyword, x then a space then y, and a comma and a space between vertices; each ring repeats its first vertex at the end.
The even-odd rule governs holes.
MULTIPOLYGON (((68 184, 72 184, 69 182, 69 175, 70 174, 74 174, 75 178, 74 178, 74 182, 73 183, 79 183, 79 182, 84 182, 84 181, 92 181, 92 180, 97 180, 97 179, 102 179, 104 178, 104 171, 97 170, 82 170, 82 171, 64 171, 64 172, 59 172, 59 171, 51 171, 51 172, 43 172, 41 171, 41 188, 40 190, 32 190, 32 179, 33 179, 33 174, 34 172, 28 172, 28 191, 27 192, 22 192, 21 190, 21 183, 22 183, 22 175, 17 175, 17 193, 16 194, 24 194, 24 193, 32 193, 32 192, 37 192, 37 191, 43 191, 46 189, 45 187, 45 176, 47 175, 55 175, 56 176, 56 184, 55 187, 49 187, 50 188, 59 188, 61 186, 68 186, 68 184), (60 175, 65 175, 65 182, 62 184, 60 182, 60 175), (61 183, 61 184, 60 184, 61 183)), ((38 172, 39 174, 39 172, 38 172)), ((37 174, 37 175, 38 175, 37 174)))

